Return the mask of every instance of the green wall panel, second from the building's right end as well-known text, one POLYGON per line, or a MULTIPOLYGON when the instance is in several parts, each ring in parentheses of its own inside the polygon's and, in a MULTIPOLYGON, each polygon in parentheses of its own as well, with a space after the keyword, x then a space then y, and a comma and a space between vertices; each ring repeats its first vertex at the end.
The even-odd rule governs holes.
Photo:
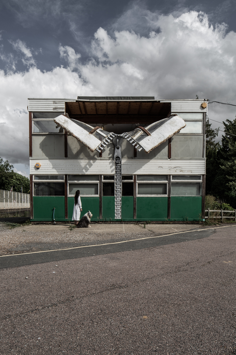
POLYGON ((168 197, 137 197, 137 219, 165 220, 168 197))

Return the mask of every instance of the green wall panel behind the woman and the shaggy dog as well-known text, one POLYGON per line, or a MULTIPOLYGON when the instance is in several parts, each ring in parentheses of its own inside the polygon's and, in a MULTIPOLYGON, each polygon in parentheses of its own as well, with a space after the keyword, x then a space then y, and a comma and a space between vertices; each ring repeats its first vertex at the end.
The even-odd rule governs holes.
MULTIPOLYGON (((90 211, 93 215, 91 221, 99 219, 99 197, 80 197, 82 204, 82 212, 80 217, 82 217, 86 212, 90 211)), ((68 219, 72 220, 73 208, 74 208, 74 197, 68 197, 68 219)))

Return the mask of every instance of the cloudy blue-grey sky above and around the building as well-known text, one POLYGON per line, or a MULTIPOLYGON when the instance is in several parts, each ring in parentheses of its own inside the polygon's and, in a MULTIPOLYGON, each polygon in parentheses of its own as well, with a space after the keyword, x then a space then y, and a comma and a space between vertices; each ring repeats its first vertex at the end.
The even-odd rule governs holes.
MULTIPOLYGON (((29 97, 236 104, 235 16, 235 0, 1 0, 0 156, 28 176, 29 97)), ((210 119, 235 115, 209 105, 210 119)))

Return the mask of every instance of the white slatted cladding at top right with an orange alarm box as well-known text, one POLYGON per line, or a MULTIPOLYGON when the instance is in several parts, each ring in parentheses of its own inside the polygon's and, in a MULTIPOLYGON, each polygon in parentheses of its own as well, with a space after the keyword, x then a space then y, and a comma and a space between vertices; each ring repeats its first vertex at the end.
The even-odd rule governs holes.
MULTIPOLYGON (((178 112, 207 112, 201 104, 203 100, 161 100, 161 102, 171 102, 171 113, 178 112)), ((207 103, 207 101, 205 101, 207 103)))

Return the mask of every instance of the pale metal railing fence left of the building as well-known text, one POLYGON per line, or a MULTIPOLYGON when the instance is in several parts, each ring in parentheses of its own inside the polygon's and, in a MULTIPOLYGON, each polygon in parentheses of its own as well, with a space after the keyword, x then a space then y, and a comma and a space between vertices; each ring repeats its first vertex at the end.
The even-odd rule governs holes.
POLYGON ((29 193, 0 190, 0 208, 30 207, 29 193))

